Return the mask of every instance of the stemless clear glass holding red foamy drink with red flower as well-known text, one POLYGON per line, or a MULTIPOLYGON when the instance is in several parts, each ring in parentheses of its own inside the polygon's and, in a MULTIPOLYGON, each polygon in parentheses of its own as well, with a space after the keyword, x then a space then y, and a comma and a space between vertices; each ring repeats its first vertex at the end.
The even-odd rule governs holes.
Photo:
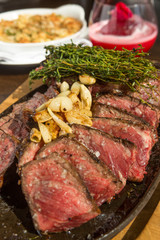
POLYGON ((93 45, 147 52, 158 35, 153 0, 95 0, 89 18, 93 45))

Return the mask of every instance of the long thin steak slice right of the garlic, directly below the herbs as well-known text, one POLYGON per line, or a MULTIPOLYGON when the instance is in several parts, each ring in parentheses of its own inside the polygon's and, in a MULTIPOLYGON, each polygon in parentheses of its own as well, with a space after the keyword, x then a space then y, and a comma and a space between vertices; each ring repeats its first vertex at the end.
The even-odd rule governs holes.
POLYGON ((151 126, 158 127, 158 111, 154 108, 154 106, 151 108, 147 104, 142 104, 139 99, 129 96, 106 94, 100 96, 97 101, 102 104, 126 110, 127 112, 144 119, 151 126))

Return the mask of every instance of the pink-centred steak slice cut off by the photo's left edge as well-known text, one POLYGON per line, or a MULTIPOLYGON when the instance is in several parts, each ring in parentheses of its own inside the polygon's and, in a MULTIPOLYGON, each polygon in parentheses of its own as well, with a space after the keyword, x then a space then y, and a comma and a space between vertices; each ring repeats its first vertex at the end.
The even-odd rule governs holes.
POLYGON ((5 173, 15 158, 17 144, 0 130, 0 176, 5 173))

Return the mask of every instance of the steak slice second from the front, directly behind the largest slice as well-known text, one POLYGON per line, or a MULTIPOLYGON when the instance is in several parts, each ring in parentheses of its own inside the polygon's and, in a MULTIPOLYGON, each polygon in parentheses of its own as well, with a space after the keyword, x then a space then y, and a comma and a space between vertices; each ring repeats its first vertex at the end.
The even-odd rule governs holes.
POLYGON ((53 152, 57 152, 76 168, 98 205, 105 201, 110 202, 113 196, 122 190, 122 183, 107 166, 101 164, 95 156, 89 154, 87 149, 73 138, 57 138, 40 150, 37 159, 46 157, 53 152))

